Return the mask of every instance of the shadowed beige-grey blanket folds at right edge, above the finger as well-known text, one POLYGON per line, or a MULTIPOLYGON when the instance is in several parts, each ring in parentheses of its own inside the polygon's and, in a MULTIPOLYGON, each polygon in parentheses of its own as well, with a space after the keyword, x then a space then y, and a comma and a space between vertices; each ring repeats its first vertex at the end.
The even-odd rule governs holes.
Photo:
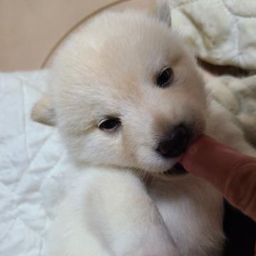
POLYGON ((233 122, 243 130, 245 139, 256 147, 256 75, 240 79, 210 75, 206 85, 213 100, 233 114, 233 122))

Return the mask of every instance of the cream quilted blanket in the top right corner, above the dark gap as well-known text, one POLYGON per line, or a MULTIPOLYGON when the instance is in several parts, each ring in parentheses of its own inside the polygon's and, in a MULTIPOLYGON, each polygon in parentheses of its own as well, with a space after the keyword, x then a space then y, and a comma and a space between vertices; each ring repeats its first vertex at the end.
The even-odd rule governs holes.
POLYGON ((256 70, 255 0, 169 0, 174 28, 198 57, 256 70))

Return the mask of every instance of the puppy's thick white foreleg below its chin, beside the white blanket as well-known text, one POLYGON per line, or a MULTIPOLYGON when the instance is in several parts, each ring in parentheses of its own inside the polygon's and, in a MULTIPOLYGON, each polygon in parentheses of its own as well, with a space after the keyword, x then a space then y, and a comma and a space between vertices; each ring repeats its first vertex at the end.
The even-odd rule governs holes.
POLYGON ((62 240, 57 246, 63 255, 178 255, 154 201, 133 174, 85 170, 70 192, 50 241, 62 240))

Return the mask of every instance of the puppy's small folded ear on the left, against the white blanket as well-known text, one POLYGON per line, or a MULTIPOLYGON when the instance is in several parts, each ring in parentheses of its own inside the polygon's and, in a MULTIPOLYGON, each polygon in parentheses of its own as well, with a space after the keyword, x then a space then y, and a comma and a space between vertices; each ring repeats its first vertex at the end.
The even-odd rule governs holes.
POLYGON ((55 126, 55 110, 53 107, 53 102, 52 100, 50 100, 50 97, 45 96, 34 105, 31 112, 31 118, 35 122, 55 126))

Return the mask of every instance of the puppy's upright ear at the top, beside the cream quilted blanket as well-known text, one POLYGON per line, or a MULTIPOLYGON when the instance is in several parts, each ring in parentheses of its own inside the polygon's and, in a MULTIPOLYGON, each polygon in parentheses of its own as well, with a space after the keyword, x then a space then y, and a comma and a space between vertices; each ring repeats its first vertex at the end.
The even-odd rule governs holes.
POLYGON ((168 1, 156 0, 152 13, 159 21, 166 23, 169 27, 171 26, 171 10, 168 1))

